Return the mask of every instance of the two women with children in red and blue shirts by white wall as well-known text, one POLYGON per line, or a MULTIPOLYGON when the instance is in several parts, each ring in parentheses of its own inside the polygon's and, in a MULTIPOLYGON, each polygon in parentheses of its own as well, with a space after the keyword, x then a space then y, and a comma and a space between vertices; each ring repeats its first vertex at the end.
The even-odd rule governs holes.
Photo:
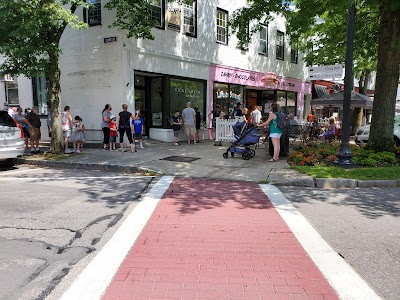
POLYGON ((144 120, 140 111, 132 114, 128 111, 128 105, 122 104, 122 111, 118 116, 111 114, 112 107, 106 104, 101 112, 101 129, 103 131, 103 149, 116 151, 117 137, 121 152, 127 152, 124 148, 124 136, 126 135, 132 153, 137 152, 135 141, 139 141, 139 147, 143 149, 144 120))

